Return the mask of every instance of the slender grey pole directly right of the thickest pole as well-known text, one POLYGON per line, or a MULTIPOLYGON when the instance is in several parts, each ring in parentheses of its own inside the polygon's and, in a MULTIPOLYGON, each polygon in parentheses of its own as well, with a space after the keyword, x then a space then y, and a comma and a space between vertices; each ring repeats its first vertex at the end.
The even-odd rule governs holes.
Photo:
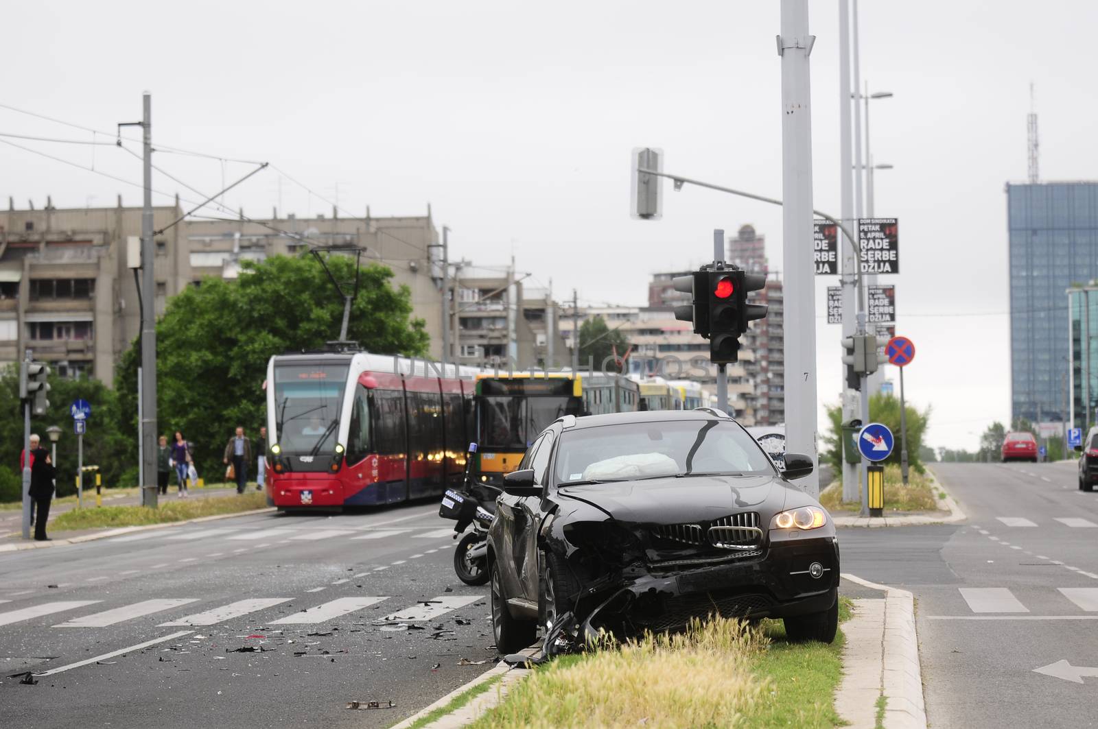
MULTIPOLYGON (((851 152, 850 120, 850 0, 839 0, 839 190, 841 195, 840 215, 847 229, 854 229, 854 180, 853 159, 851 152)), ((840 231, 840 236, 845 233, 840 231)), ((842 246, 842 336, 851 337, 856 328, 855 302, 858 257, 854 255, 852 242, 842 246)), ((836 352, 838 354, 838 352, 836 352)), ((859 399, 861 394, 847 384, 845 368, 841 369, 842 422, 849 423, 858 417, 859 399)), ((858 467, 842 459, 842 501, 858 501, 858 467)))

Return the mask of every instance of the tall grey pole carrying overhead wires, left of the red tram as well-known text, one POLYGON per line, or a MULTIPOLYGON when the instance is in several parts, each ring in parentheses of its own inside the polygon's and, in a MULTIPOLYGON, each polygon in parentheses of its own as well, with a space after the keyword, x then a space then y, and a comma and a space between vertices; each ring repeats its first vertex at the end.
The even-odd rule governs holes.
POLYGON ((153 98, 142 96, 142 137, 145 146, 145 197, 141 214, 141 265, 144 317, 141 323, 142 363, 142 504, 156 508, 156 249, 153 245, 153 98))

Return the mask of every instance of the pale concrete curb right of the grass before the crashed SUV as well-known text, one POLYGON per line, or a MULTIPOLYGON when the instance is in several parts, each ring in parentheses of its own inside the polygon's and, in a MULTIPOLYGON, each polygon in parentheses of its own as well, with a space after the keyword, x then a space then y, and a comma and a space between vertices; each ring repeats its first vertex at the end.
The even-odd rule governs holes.
MULTIPOLYGON (((884 717, 886 729, 926 729, 927 707, 922 698, 919 639, 915 627, 915 597, 906 590, 878 585, 853 574, 843 573, 842 577, 864 587, 881 590, 885 593, 885 598, 862 601, 878 603, 883 607, 883 613, 876 613, 875 618, 871 615, 867 624, 862 626, 865 629, 863 637, 874 635, 872 628, 879 626, 882 636, 879 663, 864 651, 851 650, 851 653, 859 659, 856 665, 861 670, 856 675, 852 673, 843 678, 839 695, 836 697, 836 708, 850 711, 850 707, 855 703, 852 698, 855 696, 856 704, 860 705, 867 694, 872 693, 872 675, 866 675, 864 671, 873 665, 879 665, 877 684, 879 691, 876 695, 883 694, 886 699, 884 717), (873 625, 870 625, 871 621, 873 625)), ((872 640, 870 642, 872 643, 872 640)), ((874 696, 873 700, 875 699, 874 696)), ((855 717, 852 714, 850 718, 855 717)), ((865 725, 859 722, 858 726, 865 725)))

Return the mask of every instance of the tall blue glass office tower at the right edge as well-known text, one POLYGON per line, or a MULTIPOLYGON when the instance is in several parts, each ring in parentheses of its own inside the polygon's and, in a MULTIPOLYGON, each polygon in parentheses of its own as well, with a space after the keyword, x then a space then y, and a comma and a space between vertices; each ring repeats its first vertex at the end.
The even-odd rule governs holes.
POLYGON ((1064 292, 1098 279, 1098 182, 1007 184, 1007 225, 1011 416, 1061 422, 1071 379, 1064 292))

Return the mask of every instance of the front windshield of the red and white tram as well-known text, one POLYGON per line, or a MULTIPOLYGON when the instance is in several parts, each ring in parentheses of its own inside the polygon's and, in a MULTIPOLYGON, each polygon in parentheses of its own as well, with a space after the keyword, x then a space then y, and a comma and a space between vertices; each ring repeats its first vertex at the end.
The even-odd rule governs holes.
POLYGON ((335 448, 345 363, 274 365, 274 437, 287 453, 335 448))

